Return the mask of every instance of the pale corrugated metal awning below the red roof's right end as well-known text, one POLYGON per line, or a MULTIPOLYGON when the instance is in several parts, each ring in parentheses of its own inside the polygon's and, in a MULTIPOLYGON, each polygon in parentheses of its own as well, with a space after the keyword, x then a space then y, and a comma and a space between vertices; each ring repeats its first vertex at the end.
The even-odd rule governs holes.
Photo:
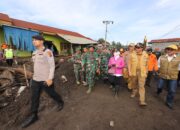
POLYGON ((64 34, 58 34, 61 38, 67 40, 68 42, 72 44, 96 44, 96 41, 93 41, 91 39, 83 38, 83 37, 76 37, 71 35, 64 35, 64 34))

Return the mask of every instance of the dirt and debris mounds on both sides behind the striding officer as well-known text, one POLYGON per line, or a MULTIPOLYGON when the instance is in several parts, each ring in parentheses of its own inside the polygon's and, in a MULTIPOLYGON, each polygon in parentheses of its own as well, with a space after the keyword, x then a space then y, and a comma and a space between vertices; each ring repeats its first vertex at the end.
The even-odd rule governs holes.
MULTIPOLYGON (((32 63, 29 60, 18 61, 18 66, 13 68, 0 67, 0 126, 6 124, 9 128, 19 125, 30 114, 31 88, 27 87, 25 71, 30 82, 32 63), (26 65, 26 70, 23 64, 26 65)), ((68 99, 70 87, 74 86, 74 83, 72 63, 56 59, 55 89, 65 100, 68 99)), ((42 93, 40 100, 39 111, 54 105, 53 100, 45 93, 42 93)))

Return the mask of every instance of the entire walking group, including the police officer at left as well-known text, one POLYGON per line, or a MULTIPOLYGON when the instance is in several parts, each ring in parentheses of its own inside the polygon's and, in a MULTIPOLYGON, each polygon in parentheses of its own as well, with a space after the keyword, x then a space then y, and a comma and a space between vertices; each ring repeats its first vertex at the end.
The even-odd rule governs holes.
MULTIPOLYGON (((61 111, 64 106, 63 99, 54 90, 54 56, 43 43, 44 38, 41 35, 33 36, 36 51, 32 54, 34 74, 31 82, 31 114, 22 123, 23 128, 38 120, 42 90, 54 99, 57 111, 61 111)), ((131 97, 134 98, 139 93, 139 105, 146 106, 145 84, 150 86, 151 76, 153 72, 156 72, 160 77, 157 95, 162 92, 164 84, 167 83, 166 105, 172 109, 180 70, 178 48, 176 45, 166 47, 166 54, 160 56, 158 60, 152 54, 152 49, 146 52, 144 48, 142 43, 129 44, 126 52, 124 49, 110 51, 103 46, 95 51, 94 46, 89 46, 83 48, 83 53, 81 53, 80 48, 77 48, 71 59, 77 85, 88 86, 87 94, 90 94, 95 86, 95 80, 109 81, 114 95, 117 96, 120 86, 126 81, 128 89, 132 92, 131 97)))

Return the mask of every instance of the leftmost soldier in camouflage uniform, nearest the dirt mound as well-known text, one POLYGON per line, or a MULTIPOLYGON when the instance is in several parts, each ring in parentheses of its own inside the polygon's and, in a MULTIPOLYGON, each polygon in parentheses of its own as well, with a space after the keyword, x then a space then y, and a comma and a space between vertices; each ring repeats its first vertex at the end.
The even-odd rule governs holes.
MULTIPOLYGON (((71 61, 73 62, 74 74, 76 78, 76 83, 80 84, 80 78, 82 75, 82 62, 81 62, 81 51, 80 48, 76 48, 75 54, 72 55, 71 61)), ((81 78, 82 79, 82 78, 81 78)))

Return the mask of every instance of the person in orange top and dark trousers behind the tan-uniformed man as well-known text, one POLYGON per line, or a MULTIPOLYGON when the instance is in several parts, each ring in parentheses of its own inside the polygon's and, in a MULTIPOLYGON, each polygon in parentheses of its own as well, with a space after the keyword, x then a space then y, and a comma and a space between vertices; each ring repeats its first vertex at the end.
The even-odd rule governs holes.
POLYGON ((146 86, 151 87, 150 84, 151 84, 153 72, 158 71, 158 62, 157 62, 156 55, 154 55, 152 53, 152 48, 148 48, 146 51, 149 55, 149 58, 148 58, 148 76, 146 79, 146 86))

